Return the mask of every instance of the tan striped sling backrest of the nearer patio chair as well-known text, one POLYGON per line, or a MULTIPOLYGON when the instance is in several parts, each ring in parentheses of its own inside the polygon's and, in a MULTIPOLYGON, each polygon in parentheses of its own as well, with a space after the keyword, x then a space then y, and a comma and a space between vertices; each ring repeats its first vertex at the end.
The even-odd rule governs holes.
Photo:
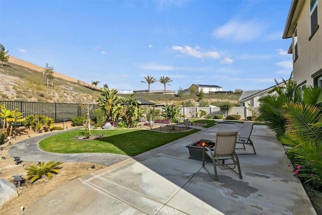
POLYGON ((237 131, 218 132, 215 142, 215 157, 229 157, 233 155, 236 146, 237 131))

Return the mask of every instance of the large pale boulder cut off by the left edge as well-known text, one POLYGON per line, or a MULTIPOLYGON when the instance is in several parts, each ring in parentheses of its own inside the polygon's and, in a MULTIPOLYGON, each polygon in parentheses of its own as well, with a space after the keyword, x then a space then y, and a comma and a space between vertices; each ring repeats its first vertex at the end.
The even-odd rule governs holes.
POLYGON ((18 197, 16 186, 6 179, 0 179, 0 209, 5 203, 18 197))

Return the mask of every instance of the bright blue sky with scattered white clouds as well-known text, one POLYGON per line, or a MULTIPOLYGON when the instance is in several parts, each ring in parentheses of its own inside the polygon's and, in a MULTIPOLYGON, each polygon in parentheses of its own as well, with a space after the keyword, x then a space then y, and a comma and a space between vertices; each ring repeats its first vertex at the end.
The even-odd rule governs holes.
MULTIPOLYGON (((260 90, 287 79, 291 0, 0 0, 0 43, 9 54, 118 90, 144 77, 260 90)), ((162 90, 154 83, 151 90, 162 90)))

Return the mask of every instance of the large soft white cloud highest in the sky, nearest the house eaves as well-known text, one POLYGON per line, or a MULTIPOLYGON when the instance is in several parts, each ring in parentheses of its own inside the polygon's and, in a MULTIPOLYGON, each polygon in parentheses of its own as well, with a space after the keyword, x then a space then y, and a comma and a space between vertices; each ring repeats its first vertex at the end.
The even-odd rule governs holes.
POLYGON ((230 20, 225 25, 216 28, 212 35, 217 38, 232 40, 233 42, 249 42, 262 34, 262 24, 256 20, 240 22, 230 20))

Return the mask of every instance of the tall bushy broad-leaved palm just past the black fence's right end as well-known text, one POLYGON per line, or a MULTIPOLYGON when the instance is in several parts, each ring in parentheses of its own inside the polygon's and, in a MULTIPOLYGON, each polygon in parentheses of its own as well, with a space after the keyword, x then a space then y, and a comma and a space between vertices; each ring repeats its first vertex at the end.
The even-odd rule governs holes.
POLYGON ((108 89, 103 88, 101 96, 98 98, 98 106, 100 106, 103 110, 106 111, 107 118, 109 119, 112 116, 112 109, 114 105, 116 105, 117 101, 117 90, 116 89, 108 89))

